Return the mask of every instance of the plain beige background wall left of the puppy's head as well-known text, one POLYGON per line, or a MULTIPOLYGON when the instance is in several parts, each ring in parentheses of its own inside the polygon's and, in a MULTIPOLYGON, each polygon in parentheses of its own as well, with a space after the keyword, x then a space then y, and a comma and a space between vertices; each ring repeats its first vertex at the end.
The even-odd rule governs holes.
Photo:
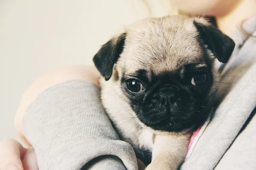
POLYGON ((168 0, 0 0, 0 140, 29 84, 53 68, 93 64, 121 26, 170 13, 168 0))

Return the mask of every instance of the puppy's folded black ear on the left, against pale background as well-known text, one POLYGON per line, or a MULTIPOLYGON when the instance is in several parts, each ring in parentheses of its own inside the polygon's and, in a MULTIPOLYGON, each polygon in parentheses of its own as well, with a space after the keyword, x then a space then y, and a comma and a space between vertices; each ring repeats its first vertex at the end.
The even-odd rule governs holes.
POLYGON ((102 76, 108 81, 113 72, 113 66, 122 53, 126 33, 113 37, 102 45, 102 48, 93 57, 93 62, 102 76))

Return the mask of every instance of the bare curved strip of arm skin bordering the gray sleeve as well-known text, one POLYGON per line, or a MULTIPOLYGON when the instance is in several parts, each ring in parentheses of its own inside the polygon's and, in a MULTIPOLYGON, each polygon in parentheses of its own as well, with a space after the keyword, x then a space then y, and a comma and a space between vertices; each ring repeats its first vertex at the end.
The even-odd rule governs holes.
POLYGON ((36 79, 23 94, 15 116, 15 129, 22 142, 28 146, 31 146, 31 144, 29 144, 29 142, 23 136, 22 119, 26 109, 39 94, 54 85, 75 79, 88 80, 99 86, 99 77, 99 71, 94 66, 83 65, 58 68, 42 75, 41 77, 38 77, 38 79, 36 79))

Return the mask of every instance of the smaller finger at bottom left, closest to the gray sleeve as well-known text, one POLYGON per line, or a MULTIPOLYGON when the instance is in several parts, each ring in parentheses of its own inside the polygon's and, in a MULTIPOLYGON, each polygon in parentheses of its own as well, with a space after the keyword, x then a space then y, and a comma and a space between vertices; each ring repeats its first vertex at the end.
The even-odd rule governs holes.
POLYGON ((36 161, 35 150, 29 149, 24 154, 22 159, 24 170, 38 170, 38 164, 36 161))

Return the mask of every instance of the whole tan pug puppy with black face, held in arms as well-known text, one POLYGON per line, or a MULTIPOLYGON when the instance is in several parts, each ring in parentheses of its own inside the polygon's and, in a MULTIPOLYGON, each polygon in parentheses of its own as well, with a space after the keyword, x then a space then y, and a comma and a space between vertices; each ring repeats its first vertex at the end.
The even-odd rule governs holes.
POLYGON ((166 16, 125 26, 93 57, 102 104, 146 170, 175 170, 209 115, 235 43, 204 18, 166 16))

